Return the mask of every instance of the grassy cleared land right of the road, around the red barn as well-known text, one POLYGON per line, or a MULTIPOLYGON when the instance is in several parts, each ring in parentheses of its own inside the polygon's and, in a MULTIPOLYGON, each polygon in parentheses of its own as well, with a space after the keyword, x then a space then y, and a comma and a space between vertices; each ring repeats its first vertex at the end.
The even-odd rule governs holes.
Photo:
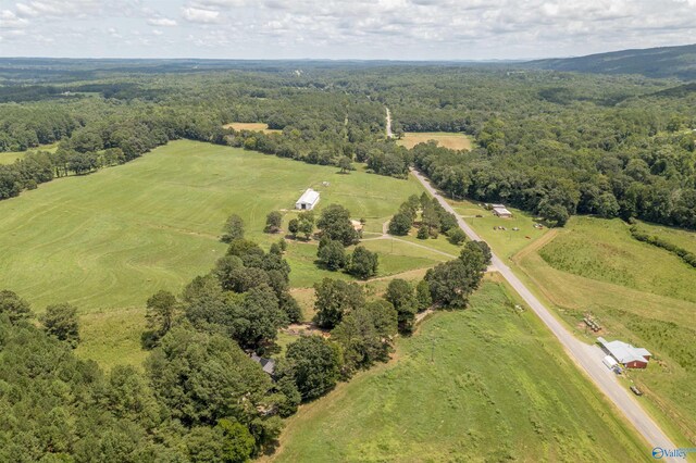
MULTIPOLYGON (((458 212, 482 214, 467 218, 508 264, 536 288, 537 297, 555 308, 577 336, 594 342, 582 318, 592 314, 599 334, 645 347, 656 358, 645 371, 631 371, 624 380, 646 391, 641 399, 672 438, 696 443, 696 271, 673 254, 633 239, 619 220, 572 217, 566 228, 537 230, 533 218, 513 210, 513 220, 486 216, 469 201, 452 202, 458 212), (492 223, 512 224, 520 232, 494 230, 492 223), (529 225, 524 225, 525 222, 529 225), (524 238, 530 230, 539 235, 524 238), (520 235, 518 235, 520 234, 520 235)), ((488 213, 489 214, 489 213, 488 213)), ((696 234, 641 224, 684 248, 696 234), (664 235, 667 233, 667 235, 664 235)))

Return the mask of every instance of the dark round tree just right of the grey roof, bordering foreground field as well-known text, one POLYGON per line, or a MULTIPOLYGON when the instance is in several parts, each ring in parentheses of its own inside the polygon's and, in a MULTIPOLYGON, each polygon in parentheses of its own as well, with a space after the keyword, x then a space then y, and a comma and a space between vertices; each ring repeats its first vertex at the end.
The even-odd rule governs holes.
POLYGON ((303 336, 290 343, 285 359, 302 400, 323 396, 338 381, 340 352, 321 336, 303 336))

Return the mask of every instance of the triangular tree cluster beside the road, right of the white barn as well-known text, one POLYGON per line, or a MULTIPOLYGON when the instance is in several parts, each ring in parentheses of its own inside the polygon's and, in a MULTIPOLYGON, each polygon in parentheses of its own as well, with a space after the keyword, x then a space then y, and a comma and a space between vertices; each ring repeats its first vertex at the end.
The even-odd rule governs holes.
POLYGON ((461 245, 467 239, 457 224, 457 217, 426 192, 420 198, 411 195, 401 203, 399 211, 389 221, 388 230, 390 235, 406 236, 413 226, 418 226, 417 237, 420 239, 437 238, 440 233, 446 234, 455 245, 461 245), (419 212, 421 220, 417 222, 419 212))

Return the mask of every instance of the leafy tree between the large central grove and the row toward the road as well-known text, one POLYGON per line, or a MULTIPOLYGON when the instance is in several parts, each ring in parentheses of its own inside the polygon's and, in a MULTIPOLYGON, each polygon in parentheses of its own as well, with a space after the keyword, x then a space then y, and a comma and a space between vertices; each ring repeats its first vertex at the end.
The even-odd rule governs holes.
POLYGON ((333 328, 344 314, 365 303, 362 288, 355 283, 324 278, 314 284, 314 322, 322 328, 333 328))

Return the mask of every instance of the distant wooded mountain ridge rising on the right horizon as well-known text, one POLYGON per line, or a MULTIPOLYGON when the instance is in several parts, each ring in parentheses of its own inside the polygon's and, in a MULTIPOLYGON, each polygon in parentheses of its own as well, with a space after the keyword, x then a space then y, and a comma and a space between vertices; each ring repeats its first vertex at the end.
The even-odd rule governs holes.
POLYGON ((696 45, 612 51, 530 61, 524 67, 596 74, 642 74, 696 80, 696 45))

